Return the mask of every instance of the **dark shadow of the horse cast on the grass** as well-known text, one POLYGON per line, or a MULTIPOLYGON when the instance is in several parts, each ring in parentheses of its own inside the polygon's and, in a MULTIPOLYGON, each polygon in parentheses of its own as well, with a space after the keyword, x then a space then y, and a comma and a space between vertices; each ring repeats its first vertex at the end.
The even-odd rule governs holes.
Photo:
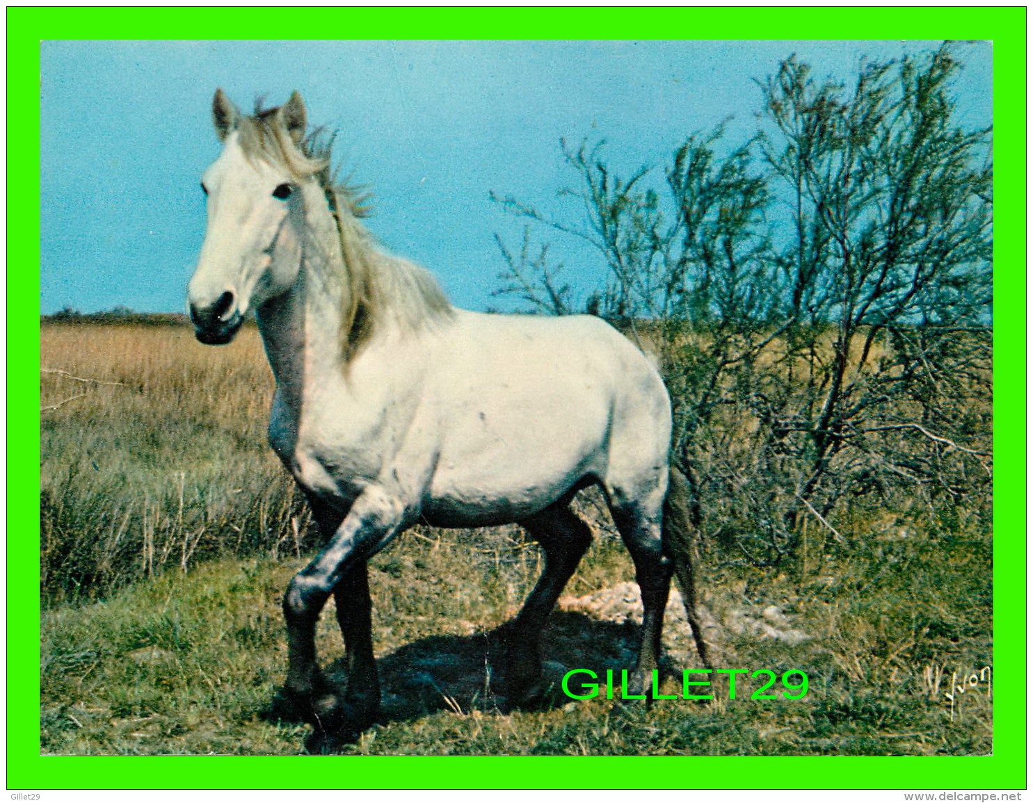
MULTIPOLYGON (((440 711, 467 715, 473 711, 504 714, 511 710, 505 697, 506 625, 469 636, 429 636, 377 661, 382 700, 377 722, 413 721, 440 711)), ((584 613, 557 611, 542 636, 542 679, 539 693, 522 709, 550 710, 573 702, 562 690, 563 675, 572 669, 630 669, 638 647, 639 627, 633 622, 593 619, 584 613)), ((345 687, 345 661, 330 664, 324 674, 345 687)), ((570 689, 580 687, 572 683, 570 689)), ((278 720, 276 708, 263 712, 278 720)), ((306 740, 310 752, 333 752, 348 737, 314 731, 306 740)))

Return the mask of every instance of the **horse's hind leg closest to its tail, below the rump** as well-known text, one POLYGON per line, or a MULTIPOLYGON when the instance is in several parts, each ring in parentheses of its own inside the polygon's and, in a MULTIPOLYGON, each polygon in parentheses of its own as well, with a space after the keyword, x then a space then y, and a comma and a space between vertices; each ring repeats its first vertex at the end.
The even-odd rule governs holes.
POLYGON ((663 612, 667 607, 674 567, 664 554, 660 505, 619 502, 619 493, 611 491, 609 509, 621 539, 634 560, 635 580, 643 597, 641 644, 632 693, 645 694, 649 700, 653 670, 659 666, 663 612))

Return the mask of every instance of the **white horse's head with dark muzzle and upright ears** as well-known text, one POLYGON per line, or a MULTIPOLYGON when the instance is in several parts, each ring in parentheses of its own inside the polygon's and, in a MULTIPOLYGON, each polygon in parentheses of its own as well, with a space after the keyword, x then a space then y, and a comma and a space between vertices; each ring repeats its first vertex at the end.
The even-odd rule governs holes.
POLYGON ((197 340, 229 343, 245 314, 285 292, 298 278, 304 195, 318 164, 301 149, 305 103, 242 116, 217 90, 212 104, 222 154, 201 179, 208 229, 190 280, 197 340))

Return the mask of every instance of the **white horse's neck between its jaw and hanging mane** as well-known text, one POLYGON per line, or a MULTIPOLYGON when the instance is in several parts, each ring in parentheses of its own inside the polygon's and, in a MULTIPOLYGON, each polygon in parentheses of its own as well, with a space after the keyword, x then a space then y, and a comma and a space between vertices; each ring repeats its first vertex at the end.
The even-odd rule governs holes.
POLYGON ((342 265, 332 261, 342 257, 334 243, 336 232, 325 223, 318 221, 306 234, 294 286, 268 301, 257 315, 277 387, 291 407, 300 408, 306 387, 322 383, 332 373, 342 375, 346 282, 342 265))

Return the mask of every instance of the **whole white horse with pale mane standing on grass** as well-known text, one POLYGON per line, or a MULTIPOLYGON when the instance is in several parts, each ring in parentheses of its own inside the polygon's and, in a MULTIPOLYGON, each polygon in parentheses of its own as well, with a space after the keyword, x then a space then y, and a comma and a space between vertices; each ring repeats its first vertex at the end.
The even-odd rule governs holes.
POLYGON ((657 666, 672 572, 706 661, 678 505, 664 521, 668 477, 683 481, 668 471, 670 403, 650 360, 597 318, 451 307, 430 274, 376 248, 361 201, 330 176, 328 147, 306 139, 298 93, 249 117, 219 90, 213 113, 223 150, 201 182, 208 230, 190 316, 201 343, 225 344, 255 311, 276 377, 270 442, 326 538, 283 602, 289 704, 324 729, 375 720, 367 561, 417 521, 515 521, 544 548, 507 637, 509 699, 533 697, 541 630, 591 540, 569 505, 591 484, 641 589, 636 687, 657 666), (343 693, 315 654, 332 593, 343 693))

